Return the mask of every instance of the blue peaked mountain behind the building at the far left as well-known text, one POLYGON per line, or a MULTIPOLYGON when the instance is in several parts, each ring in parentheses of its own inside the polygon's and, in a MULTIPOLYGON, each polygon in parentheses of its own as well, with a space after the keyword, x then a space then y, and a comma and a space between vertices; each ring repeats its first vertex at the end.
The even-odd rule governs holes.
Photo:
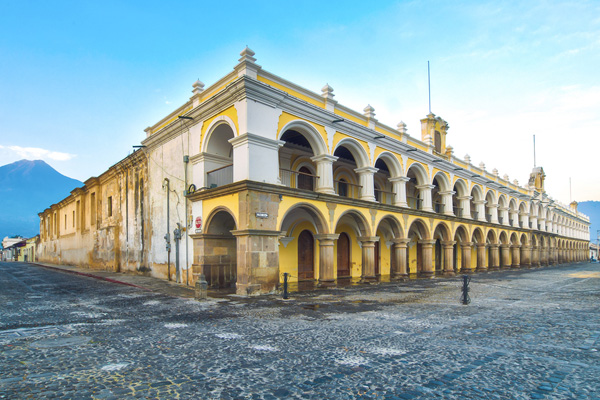
POLYGON ((0 167, 0 240, 37 235, 37 214, 80 186, 82 182, 62 175, 42 160, 21 160, 0 167))

